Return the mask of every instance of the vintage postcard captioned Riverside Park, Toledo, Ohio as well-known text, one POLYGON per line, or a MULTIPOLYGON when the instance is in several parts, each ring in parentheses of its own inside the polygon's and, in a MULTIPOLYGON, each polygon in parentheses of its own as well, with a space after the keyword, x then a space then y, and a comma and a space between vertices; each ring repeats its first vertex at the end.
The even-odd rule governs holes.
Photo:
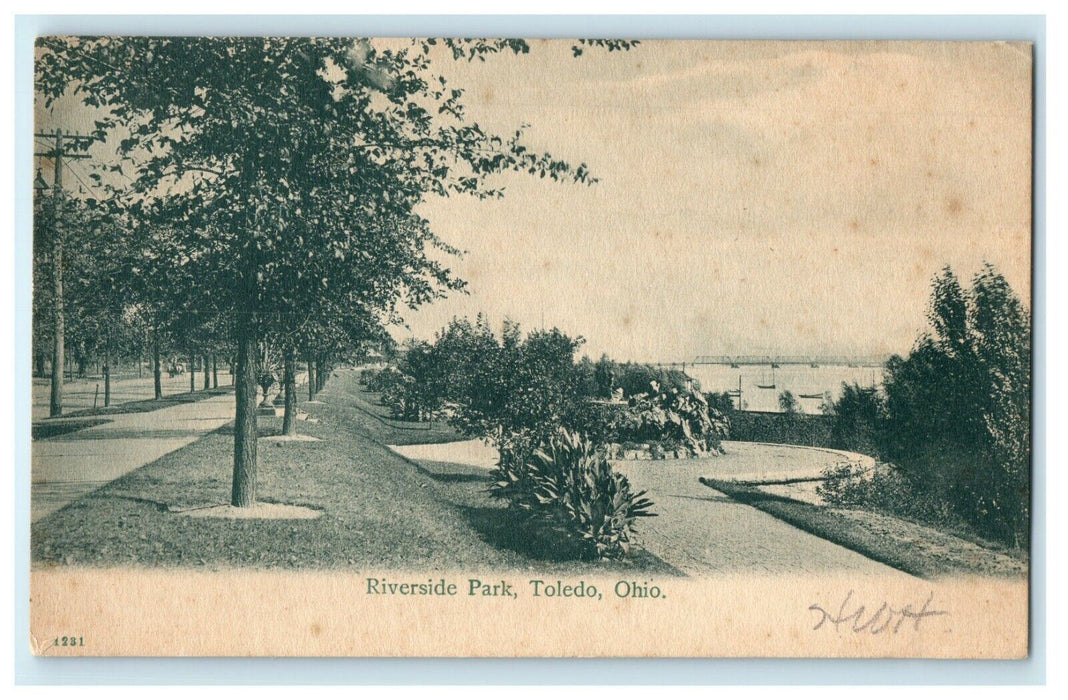
POLYGON ((40 36, 40 655, 1028 654, 1032 46, 40 36))

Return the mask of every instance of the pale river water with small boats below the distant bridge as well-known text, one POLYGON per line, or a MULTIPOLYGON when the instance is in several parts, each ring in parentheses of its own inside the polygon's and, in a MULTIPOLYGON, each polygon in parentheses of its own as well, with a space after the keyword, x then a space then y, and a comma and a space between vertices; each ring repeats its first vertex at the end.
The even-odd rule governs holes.
MULTIPOLYGON (((779 394, 790 391, 806 414, 820 413, 823 394, 837 400, 842 384, 862 387, 882 383, 881 367, 849 367, 848 364, 687 364, 686 373, 701 383, 703 391, 733 391, 741 388, 743 410, 779 410, 779 394), (740 382, 740 384, 739 384, 740 382)), ((735 399, 738 405, 738 398, 735 399)))

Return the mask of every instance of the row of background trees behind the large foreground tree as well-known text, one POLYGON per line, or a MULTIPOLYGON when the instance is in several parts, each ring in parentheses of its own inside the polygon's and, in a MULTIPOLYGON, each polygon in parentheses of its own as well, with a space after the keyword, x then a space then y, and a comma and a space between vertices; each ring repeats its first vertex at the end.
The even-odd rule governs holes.
MULTIPOLYGON (((164 253, 152 245, 164 238, 139 239, 136 227, 97 199, 69 198, 57 207, 54 196, 38 195, 34 208, 34 374, 52 374, 49 348, 57 341, 57 296, 49 282, 57 274, 51 254, 57 235, 63 236, 62 340, 69 348, 65 353, 68 372, 72 377, 85 376, 87 369, 96 363, 105 382, 105 406, 111 403, 114 369, 123 362, 136 363, 140 374, 147 359, 156 399, 163 395, 164 373, 188 371, 190 391, 218 388, 220 364, 233 373, 232 320, 209 301, 193 308, 193 300, 204 301, 191 294, 193 284, 161 283, 142 274, 145 260, 164 260, 164 253), (198 371, 203 373, 203 384, 198 371)), ((290 374, 295 377, 296 365, 288 374, 283 370, 285 358, 276 338, 271 333, 260 343, 255 367, 261 386, 290 374), (267 376, 270 382, 265 380, 267 376)), ((311 375, 325 373, 327 358, 388 342, 380 326, 332 343, 329 336, 320 335, 316 343, 304 342, 299 356, 311 375)), ((53 415, 62 415, 62 404, 59 408, 53 415)))

